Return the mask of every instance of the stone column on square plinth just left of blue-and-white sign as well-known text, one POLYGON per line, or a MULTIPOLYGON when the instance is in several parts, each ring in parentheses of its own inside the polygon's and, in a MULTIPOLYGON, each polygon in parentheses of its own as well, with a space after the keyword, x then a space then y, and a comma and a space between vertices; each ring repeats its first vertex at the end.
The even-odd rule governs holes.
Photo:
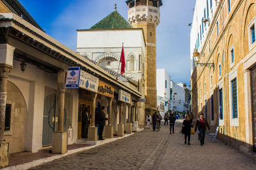
POLYGON ((63 131, 66 71, 58 71, 58 131, 53 132, 52 153, 67 152, 67 132, 63 131))

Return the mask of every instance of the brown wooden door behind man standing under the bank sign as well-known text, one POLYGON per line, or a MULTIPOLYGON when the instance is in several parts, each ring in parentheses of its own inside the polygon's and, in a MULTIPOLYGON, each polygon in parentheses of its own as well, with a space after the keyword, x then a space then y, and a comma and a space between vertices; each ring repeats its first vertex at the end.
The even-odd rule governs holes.
POLYGON ((92 113, 92 102, 88 101, 86 99, 83 98, 79 98, 79 104, 78 104, 78 124, 77 124, 77 139, 81 139, 82 138, 82 118, 83 118, 83 112, 85 111, 85 109, 87 107, 90 108, 90 115, 92 113))

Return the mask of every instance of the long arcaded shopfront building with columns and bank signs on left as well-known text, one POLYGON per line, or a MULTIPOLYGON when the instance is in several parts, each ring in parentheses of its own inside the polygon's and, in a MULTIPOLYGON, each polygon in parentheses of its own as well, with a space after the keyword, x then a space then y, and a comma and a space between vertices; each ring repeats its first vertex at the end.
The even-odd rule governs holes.
POLYGON ((108 117, 106 138, 113 138, 116 126, 117 136, 124 136, 124 124, 131 133, 131 118, 138 115, 142 97, 136 83, 116 80, 51 38, 19 1, 1 0, 0 7, 0 167, 8 166, 10 153, 45 147, 66 153, 67 144, 84 138, 87 108, 87 141, 97 142, 99 104, 108 117))

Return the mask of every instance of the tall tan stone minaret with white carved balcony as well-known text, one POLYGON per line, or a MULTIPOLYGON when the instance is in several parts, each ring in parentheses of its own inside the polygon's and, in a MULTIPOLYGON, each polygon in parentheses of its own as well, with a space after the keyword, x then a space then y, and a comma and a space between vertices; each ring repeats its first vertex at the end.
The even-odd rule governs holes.
POLYGON ((145 115, 154 113, 157 105, 156 94, 156 26, 160 22, 159 6, 162 0, 127 0, 128 22, 134 28, 143 28, 145 49, 145 115))

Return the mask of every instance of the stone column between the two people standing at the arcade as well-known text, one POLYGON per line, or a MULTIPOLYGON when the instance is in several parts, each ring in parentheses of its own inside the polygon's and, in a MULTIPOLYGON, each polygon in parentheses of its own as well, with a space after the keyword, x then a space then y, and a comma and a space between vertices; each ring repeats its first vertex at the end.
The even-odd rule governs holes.
POLYGON ((90 144, 96 144, 96 141, 98 139, 98 127, 95 127, 95 108, 96 108, 96 99, 97 99, 97 93, 92 94, 92 117, 91 117, 91 126, 88 129, 88 141, 90 144))

